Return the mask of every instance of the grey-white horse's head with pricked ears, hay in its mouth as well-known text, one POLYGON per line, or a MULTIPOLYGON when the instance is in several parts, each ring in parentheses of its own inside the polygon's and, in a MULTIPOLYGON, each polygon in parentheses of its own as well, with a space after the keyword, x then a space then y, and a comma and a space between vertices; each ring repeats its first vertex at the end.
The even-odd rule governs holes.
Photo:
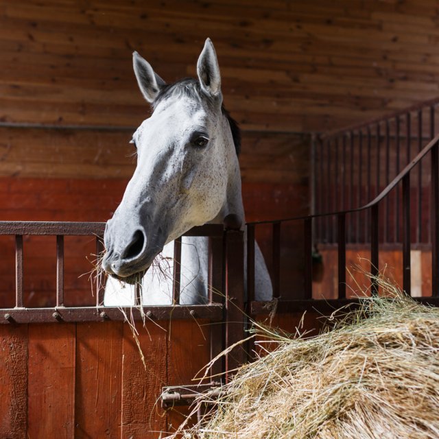
POLYGON ((239 130, 222 106, 221 76, 209 38, 198 79, 166 84, 137 52, 134 73, 152 115, 132 136, 137 167, 106 226, 102 266, 134 283, 163 246, 194 226, 241 216, 239 130))

